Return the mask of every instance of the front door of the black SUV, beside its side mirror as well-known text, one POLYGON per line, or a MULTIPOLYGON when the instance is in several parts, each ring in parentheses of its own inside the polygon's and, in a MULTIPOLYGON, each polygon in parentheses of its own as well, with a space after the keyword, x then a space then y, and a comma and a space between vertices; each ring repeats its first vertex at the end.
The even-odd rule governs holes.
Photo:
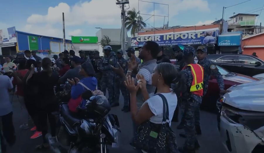
POLYGON ((253 57, 240 55, 238 56, 238 63, 242 69, 241 74, 253 76, 264 73, 263 63, 253 57), (260 63, 261 65, 258 65, 256 63, 260 63))

